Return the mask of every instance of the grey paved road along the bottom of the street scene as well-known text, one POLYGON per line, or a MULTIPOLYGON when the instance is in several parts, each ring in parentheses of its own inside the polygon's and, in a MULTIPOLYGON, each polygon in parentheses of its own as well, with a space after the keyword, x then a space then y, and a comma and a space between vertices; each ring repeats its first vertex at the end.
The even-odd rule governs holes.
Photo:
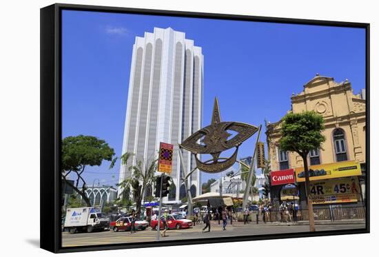
MULTIPOLYGON (((222 224, 222 223, 221 223, 222 224)), ((256 225, 243 223, 234 223, 233 226, 227 225, 227 230, 223 231, 222 225, 212 223, 211 232, 203 233, 202 228, 204 225, 196 225, 189 229, 172 229, 167 230, 166 237, 161 240, 183 240, 192 238, 219 238, 223 236, 252 236, 252 235, 267 235, 267 234, 280 234, 280 233, 298 233, 309 232, 308 225, 256 225)), ((333 231, 336 229, 362 229, 365 228, 363 224, 349 224, 349 225, 316 225, 316 231, 333 231)), ((68 232, 62 233, 62 246, 75 247, 83 245, 107 245, 116 243, 136 243, 147 242, 156 240, 156 231, 152 231, 148 227, 145 231, 138 231, 134 234, 130 232, 94 232, 94 233, 80 233, 69 234, 68 232)))

